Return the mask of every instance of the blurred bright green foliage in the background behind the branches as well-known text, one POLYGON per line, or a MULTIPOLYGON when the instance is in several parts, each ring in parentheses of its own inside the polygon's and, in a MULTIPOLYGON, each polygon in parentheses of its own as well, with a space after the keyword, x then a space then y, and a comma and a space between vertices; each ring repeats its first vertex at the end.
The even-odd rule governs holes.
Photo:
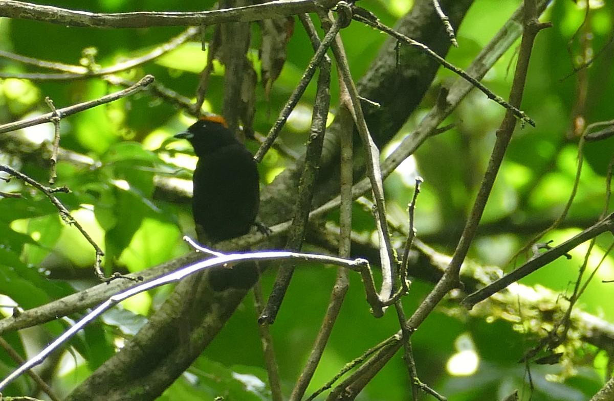
MULTIPOLYGON (((467 67, 518 4, 517 0, 477 0, 457 31, 460 46, 451 50, 448 60, 467 67)), ((519 246, 541 230, 539 227, 547 226, 562 212, 577 171, 577 127, 581 131, 582 126, 612 119, 613 6, 610 2, 599 3, 585 20, 582 4, 586 3, 557 0, 542 17, 544 21, 552 21, 553 28, 540 32, 537 37, 523 101, 523 110, 537 121, 537 128, 519 128, 508 149, 483 218, 490 229, 478 237, 470 253, 475 261, 505 264, 519 246), (593 64, 572 74, 586 57, 594 57, 593 64)), ((191 11, 209 9, 213 2, 196 5, 176 0, 163 3, 99 0, 84 5, 76 0, 56 0, 53 5, 87 8, 91 12, 191 11)), ((381 0, 362 6, 375 12, 384 23, 392 24, 410 8, 411 2, 381 0)), ((2 18, 0 47, 19 55, 68 64, 83 63, 84 50, 93 48, 95 62, 111 66, 142 55, 181 31, 181 28, 67 28, 2 18)), ((257 35, 258 30, 254 29, 254 33, 257 35)), ((356 22, 344 29, 342 37, 352 73, 359 78, 386 37, 356 22)), ((250 54, 257 64, 257 51, 252 50, 250 54)), ((266 132, 270 128, 312 54, 308 38, 297 25, 288 45, 287 63, 269 99, 258 86, 258 112, 254 122, 257 131, 266 132)), ((205 60, 200 44, 192 42, 120 75, 137 80, 144 74, 153 74, 158 83, 191 98, 205 60)), ((513 46, 483 80, 500 96, 507 96, 515 60, 516 46, 513 46)), ((0 66, 4 72, 15 74, 34 71, 30 66, 7 59, 0 59, 0 66)), ((222 74, 223 67, 218 65, 209 84, 206 107, 212 112, 221 108, 222 74)), ((449 71, 438 73, 432 91, 399 137, 411 132, 434 104, 439 88, 448 86, 453 78, 456 77, 449 71)), ((334 112, 338 89, 333 85, 334 112)), ((314 88, 310 85, 301 100, 301 107, 307 110, 313 102, 314 88)), ((0 123, 48 112, 45 96, 50 96, 60 108, 119 89, 99 79, 69 82, 3 79, 0 80, 0 123)), ((413 191, 411 179, 407 177, 416 172, 422 175, 426 183, 416 209, 418 236, 438 250, 451 253, 480 185, 502 115, 499 105, 477 91, 470 93, 448 119, 449 123, 456 124, 454 129, 427 140, 413 156, 413 167, 395 172, 386 181, 391 216, 405 224, 404 211, 413 191)), ((176 153, 183 149, 182 145, 170 143, 165 149, 160 146, 190 121, 173 105, 146 93, 62 120, 61 147, 81 155, 83 160, 60 161, 58 186, 68 186, 71 193, 57 197, 106 252, 106 273, 138 272, 188 251, 181 237, 192 231, 189 205, 154 201, 153 195, 156 177, 189 177, 188 170, 194 160, 176 153)), ((289 127, 298 125, 290 121, 289 127)), ((48 124, 23 129, 14 135, 36 146, 52 138, 52 129, 48 124)), ((286 128, 282 134, 284 143, 297 152, 302 150, 305 137, 305 129, 286 128)), ((596 221, 604 208, 611 210, 611 205, 605 204, 605 175, 612 158, 613 140, 586 144, 585 164, 568 223, 548 234, 547 240, 560 243, 569 239, 596 221)), ((249 146, 254 148, 252 144, 249 146)), ((10 164, 41 183, 47 182, 49 169, 41 166, 36 158, 18 156, 20 149, 0 150, 1 164, 10 164)), ((260 166, 263 184, 270 182, 289 162, 271 151, 260 166)), ((23 195, 21 199, 0 199, 0 293, 3 296, 0 304, 4 315, 9 316, 14 305, 25 309, 37 307, 95 283, 91 271, 95 260, 93 248, 74 227, 63 223, 43 194, 15 179, 0 182, 0 191, 23 195)), ((355 230, 369 235, 373 230, 370 213, 360 207, 355 212, 355 230)), ((330 218, 334 216, 335 213, 330 218)), ((572 260, 559 259, 522 282, 561 293, 569 291, 577 279, 585 245, 572 251, 572 260)), ((614 279, 614 262, 606 254, 611 245, 610 237, 597 240, 589 269, 594 269, 602 257, 605 260, 580 300, 586 311, 610 321, 614 319, 614 305, 607 302, 611 288, 600 281, 614 279)), ((289 393, 308 357, 334 278, 333 269, 300 266, 279 319, 271 327, 285 394, 289 393)), ((270 290, 272 283, 273 273, 267 272, 263 277, 265 291, 270 290)), ((430 288, 429 283, 415 281, 405 299, 406 310, 413 311, 430 288)), ((123 305, 126 310, 121 318, 109 316, 90 324, 83 335, 75 337, 71 346, 80 357, 66 354, 61 360, 61 373, 52 380, 60 393, 68 392, 88 372, 106 361, 123 341, 122 337, 134 332, 134 327, 128 327, 131 318, 132 323, 142 324, 139 314, 151 313, 167 292, 168 289, 160 289, 138 302, 128 302, 123 305)), ((459 318, 443 312, 442 308, 429 316, 413 336, 421 380, 454 400, 502 399, 513 389, 520 390, 522 399, 529 399, 526 367, 518 364, 518 360, 534 346, 536 339, 507 322, 486 322, 468 315, 459 318), (479 364, 469 375, 454 376, 446 371, 446 363, 463 351, 455 345, 462 335, 472 340, 473 348, 468 351, 478 356, 479 364)), ((59 335, 70 319, 45 324, 34 333, 10 333, 4 338, 23 356, 26 340, 30 345, 44 345, 59 335)), ((372 318, 360 280, 352 276, 340 319, 309 390, 316 390, 344 364, 397 329, 392 313, 379 320, 372 318)), ((585 400, 594 394, 602 383, 600 375, 604 368, 594 369, 595 349, 586 348, 583 352, 578 356, 583 364, 578 364, 571 375, 561 372, 558 365, 532 366, 532 400, 585 400), (557 378, 560 380, 556 381, 557 378)), ((14 362, 0 353, 0 375, 6 375, 12 367, 14 362)), ((270 399, 265 383, 253 300, 247 297, 214 343, 161 399, 209 400, 218 395, 228 400, 270 399)), ((26 394, 32 386, 21 378, 10 392, 26 394)), ((361 397, 364 400, 410 399, 408 389, 406 370, 397 356, 371 381, 361 397)))

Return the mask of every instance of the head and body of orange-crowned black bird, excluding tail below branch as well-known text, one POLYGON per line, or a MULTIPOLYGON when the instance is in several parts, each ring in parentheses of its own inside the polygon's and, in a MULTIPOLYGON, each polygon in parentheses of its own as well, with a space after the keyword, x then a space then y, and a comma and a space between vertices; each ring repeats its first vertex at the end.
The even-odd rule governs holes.
POLYGON ((189 140, 198 156, 192 199, 198 240, 215 243, 247 234, 260 205, 252 154, 221 116, 204 116, 175 137, 189 140))

